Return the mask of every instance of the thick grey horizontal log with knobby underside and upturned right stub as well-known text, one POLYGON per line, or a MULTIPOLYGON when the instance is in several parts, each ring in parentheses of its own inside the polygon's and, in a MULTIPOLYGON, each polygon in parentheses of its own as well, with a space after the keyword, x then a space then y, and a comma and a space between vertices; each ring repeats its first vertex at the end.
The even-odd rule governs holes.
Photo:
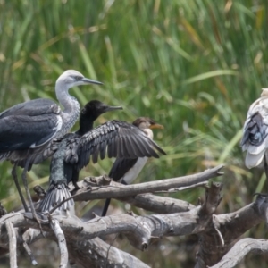
MULTIPOLYGON (((205 230, 209 215, 214 212, 219 198, 221 199, 219 195, 221 188, 219 183, 213 184, 212 188, 207 188, 208 194, 204 205, 184 213, 155 214, 145 217, 120 214, 103 218, 96 217, 90 222, 80 222, 75 216, 54 215, 53 218, 60 222, 65 237, 68 239, 85 240, 100 235, 124 232, 131 244, 144 250, 152 237, 187 235, 205 230)), ((0 219, 0 224, 7 216, 0 219)), ((36 222, 29 221, 28 218, 19 214, 14 214, 12 221, 16 227, 38 227, 36 222)), ((50 229, 47 225, 43 225, 43 230, 49 231, 50 229)))

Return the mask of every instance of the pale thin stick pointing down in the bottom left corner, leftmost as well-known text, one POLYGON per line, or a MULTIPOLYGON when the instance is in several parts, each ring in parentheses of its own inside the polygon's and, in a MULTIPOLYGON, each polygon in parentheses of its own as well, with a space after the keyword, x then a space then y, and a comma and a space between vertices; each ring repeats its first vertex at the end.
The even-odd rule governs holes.
POLYGON ((17 238, 12 222, 5 222, 5 228, 7 230, 9 239, 9 259, 10 267, 17 268, 17 238))

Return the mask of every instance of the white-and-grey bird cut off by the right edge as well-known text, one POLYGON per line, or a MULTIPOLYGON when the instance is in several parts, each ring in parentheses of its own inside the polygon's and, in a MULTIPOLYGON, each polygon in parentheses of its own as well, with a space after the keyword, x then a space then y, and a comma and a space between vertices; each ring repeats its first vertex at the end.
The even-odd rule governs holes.
POLYGON ((245 160, 247 168, 258 166, 264 160, 267 176, 265 152, 268 149, 268 88, 263 89, 261 97, 248 109, 240 145, 243 151, 247 151, 245 160))

